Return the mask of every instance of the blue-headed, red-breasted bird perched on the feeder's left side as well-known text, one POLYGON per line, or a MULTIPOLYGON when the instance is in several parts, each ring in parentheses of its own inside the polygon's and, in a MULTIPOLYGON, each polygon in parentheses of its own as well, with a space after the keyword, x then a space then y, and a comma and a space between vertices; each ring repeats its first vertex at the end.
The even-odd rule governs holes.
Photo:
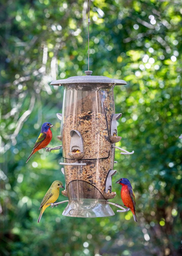
MULTIPOLYGON (((51 139, 52 139, 51 127, 53 127, 53 125, 51 123, 43 123, 40 136, 38 136, 38 139, 35 142, 35 145, 33 147, 32 153, 30 154, 27 161, 29 161, 30 157, 33 154, 35 154, 35 152, 37 152, 41 148, 47 147, 47 145, 51 142, 51 139)), ((26 161, 26 163, 27 163, 27 161, 26 161)))

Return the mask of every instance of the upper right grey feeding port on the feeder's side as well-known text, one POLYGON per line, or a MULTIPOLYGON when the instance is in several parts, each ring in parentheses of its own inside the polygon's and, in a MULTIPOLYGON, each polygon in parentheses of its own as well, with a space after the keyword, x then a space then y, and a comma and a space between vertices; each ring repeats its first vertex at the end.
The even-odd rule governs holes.
POLYGON ((113 114, 111 116, 111 125, 110 125, 110 141, 112 143, 116 143, 121 141, 122 137, 117 136, 117 120, 120 119, 120 117, 122 116, 121 113, 119 114, 113 114))

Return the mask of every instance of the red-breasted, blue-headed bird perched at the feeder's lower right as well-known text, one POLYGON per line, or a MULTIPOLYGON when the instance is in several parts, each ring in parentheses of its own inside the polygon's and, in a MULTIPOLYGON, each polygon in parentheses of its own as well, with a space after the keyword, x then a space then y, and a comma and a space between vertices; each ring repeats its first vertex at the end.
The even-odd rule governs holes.
POLYGON ((124 205, 128 208, 130 208, 131 212, 133 213, 134 221, 138 222, 135 214, 135 194, 133 192, 133 188, 131 186, 130 181, 127 178, 121 178, 116 181, 116 183, 119 183, 122 185, 121 189, 121 199, 124 205))

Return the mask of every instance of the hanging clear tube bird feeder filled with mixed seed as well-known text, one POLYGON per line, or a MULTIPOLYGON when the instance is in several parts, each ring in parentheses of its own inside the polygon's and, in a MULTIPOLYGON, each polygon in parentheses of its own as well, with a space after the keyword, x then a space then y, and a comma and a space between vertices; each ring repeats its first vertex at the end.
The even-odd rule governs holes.
MULTIPOLYGON (((105 217, 114 212, 108 205, 116 193, 112 191, 114 144, 117 120, 114 108, 114 86, 127 84, 106 76, 74 76, 52 81, 51 85, 64 87, 61 120, 63 161, 68 206, 63 215, 70 217, 105 217)), ((122 150, 122 148, 119 148, 122 150)), ((134 152, 132 152, 134 153, 134 152)), ((122 154, 131 154, 124 150, 122 154)))

